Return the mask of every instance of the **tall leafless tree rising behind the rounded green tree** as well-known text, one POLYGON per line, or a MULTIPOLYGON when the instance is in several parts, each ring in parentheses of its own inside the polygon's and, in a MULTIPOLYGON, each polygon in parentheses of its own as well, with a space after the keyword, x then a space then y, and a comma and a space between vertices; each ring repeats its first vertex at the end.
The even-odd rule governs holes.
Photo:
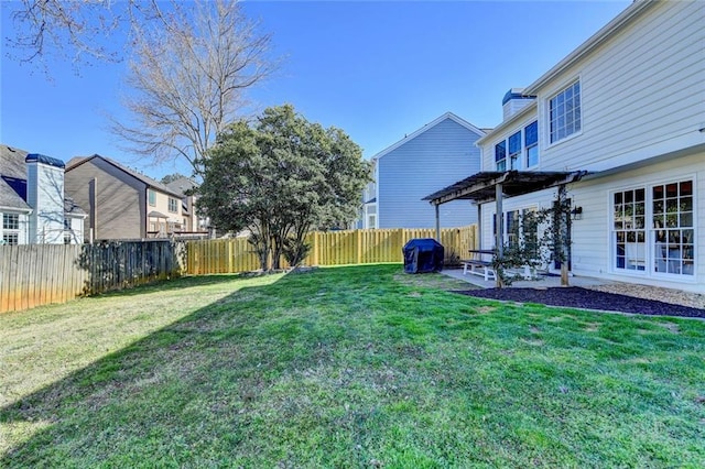
POLYGON ((236 119, 243 91, 270 76, 270 35, 232 0, 174 9, 160 28, 134 31, 123 98, 132 120, 113 120, 126 150, 155 162, 183 157, 199 174, 216 135, 236 119))

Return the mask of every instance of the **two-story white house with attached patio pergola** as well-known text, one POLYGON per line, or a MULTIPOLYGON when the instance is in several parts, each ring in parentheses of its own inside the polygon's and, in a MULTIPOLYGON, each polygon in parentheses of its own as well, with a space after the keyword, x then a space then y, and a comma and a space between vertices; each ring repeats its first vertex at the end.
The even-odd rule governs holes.
POLYGON ((705 2, 633 2, 510 91, 503 122, 478 141, 481 173, 429 198, 482 203, 491 248, 496 226, 505 242, 525 236, 521 214, 564 184, 575 274, 705 293, 704 24, 705 2))

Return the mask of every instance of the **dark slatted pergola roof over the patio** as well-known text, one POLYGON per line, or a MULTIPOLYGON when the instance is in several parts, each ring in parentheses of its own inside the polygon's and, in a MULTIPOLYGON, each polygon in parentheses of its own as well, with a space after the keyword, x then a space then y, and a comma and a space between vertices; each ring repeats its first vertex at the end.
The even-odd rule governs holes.
POLYGON ((478 203, 495 200, 497 185, 502 185, 502 195, 516 197, 547 189, 561 184, 570 184, 585 176, 585 171, 549 172, 549 171, 487 171, 476 173, 470 177, 458 181, 422 200, 433 205, 445 204, 451 200, 465 199, 478 203))

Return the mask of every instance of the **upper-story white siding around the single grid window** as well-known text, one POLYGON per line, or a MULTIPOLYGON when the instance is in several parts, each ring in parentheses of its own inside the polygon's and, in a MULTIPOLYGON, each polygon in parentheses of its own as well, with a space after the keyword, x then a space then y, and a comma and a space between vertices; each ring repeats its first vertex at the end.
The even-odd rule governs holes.
POLYGON ((705 2, 659 2, 539 92, 541 170, 601 171, 705 142, 705 2), (547 101, 581 80, 582 132, 549 145, 547 101))

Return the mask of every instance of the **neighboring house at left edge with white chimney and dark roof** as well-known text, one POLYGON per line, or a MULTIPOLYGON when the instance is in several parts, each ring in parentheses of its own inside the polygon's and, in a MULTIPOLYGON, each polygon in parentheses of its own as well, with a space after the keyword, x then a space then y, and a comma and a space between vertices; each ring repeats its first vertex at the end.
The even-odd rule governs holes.
POLYGON ((83 242, 86 214, 64 194, 64 162, 0 145, 0 244, 83 242))

